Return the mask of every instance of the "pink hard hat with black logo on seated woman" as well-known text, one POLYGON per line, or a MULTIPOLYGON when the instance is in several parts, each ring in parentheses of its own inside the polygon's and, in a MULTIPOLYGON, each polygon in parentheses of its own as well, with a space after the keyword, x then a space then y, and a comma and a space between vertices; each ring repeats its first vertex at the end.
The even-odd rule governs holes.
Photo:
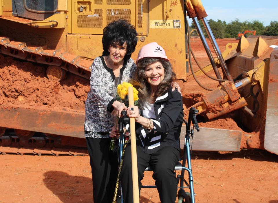
POLYGON ((164 58, 165 60, 169 61, 167 58, 164 49, 158 45, 156 42, 151 42, 145 46, 143 46, 139 53, 138 57, 136 59, 136 63, 142 59, 147 57, 158 57, 158 58, 164 58))

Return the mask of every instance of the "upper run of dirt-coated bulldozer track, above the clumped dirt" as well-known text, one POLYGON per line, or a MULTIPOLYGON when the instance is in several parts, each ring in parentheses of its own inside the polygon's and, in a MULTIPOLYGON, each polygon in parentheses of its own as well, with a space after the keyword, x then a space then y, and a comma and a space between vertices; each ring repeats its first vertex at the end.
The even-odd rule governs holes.
POLYGON ((63 48, 50 50, 47 46, 28 46, 25 42, 0 36, 0 53, 35 63, 55 65, 86 79, 91 75, 90 65, 93 61, 65 52, 63 48))

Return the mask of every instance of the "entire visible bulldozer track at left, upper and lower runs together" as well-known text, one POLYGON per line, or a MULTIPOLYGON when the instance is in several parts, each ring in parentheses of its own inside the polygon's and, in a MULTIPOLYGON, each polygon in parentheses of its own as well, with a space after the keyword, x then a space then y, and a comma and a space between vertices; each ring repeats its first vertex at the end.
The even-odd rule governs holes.
MULTIPOLYGON (((89 79, 90 66, 93 60, 88 60, 70 54, 63 50, 47 49, 47 46, 37 47, 25 42, 12 41, 11 38, 0 36, 0 53, 13 58, 39 64, 57 66, 72 74, 89 79)), ((35 154, 41 155, 88 155, 86 147, 63 146, 62 138, 54 139, 45 136, 45 133, 36 132, 31 138, 19 138, 13 130, 0 131, 0 154, 35 154), (4 131, 5 132, 5 131, 4 131)), ((78 146, 78 145, 77 145, 78 146)), ((82 145, 83 146, 83 145, 82 145)))

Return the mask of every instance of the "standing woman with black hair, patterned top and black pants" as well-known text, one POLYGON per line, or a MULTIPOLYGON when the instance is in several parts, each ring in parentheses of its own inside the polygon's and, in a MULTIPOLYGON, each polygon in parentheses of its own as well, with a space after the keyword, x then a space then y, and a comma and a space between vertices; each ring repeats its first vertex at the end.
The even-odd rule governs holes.
POLYGON ((126 106, 112 97, 114 82, 120 75, 132 78, 136 65, 131 59, 137 32, 128 21, 119 19, 103 29, 103 55, 91 66, 90 92, 85 102, 85 137, 92 167, 95 203, 111 203, 115 190, 118 159, 109 150, 114 125, 111 112, 126 106))

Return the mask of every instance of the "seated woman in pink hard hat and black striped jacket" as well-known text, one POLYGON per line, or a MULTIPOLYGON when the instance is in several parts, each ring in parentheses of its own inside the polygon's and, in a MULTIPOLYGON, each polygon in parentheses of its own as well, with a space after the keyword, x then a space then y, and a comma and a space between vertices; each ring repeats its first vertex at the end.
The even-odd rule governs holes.
MULTIPOLYGON (((139 191, 144 171, 150 165, 160 201, 175 202, 177 179, 174 168, 180 155, 182 96, 177 89, 171 91, 175 73, 164 49, 156 42, 142 47, 136 64, 136 81, 144 92, 139 95, 143 109, 129 106, 126 110, 136 122, 139 191)), ((133 202, 130 145, 125 149, 120 180, 124 202, 133 202)))

